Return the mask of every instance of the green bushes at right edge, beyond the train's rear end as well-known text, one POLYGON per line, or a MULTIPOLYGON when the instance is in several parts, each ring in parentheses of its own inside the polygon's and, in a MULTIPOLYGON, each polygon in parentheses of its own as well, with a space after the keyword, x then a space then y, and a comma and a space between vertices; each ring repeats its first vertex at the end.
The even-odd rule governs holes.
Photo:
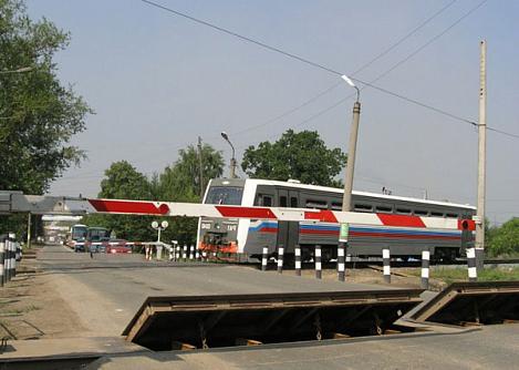
POLYGON ((501 227, 489 228, 487 248, 491 256, 512 256, 519 254, 519 218, 512 218, 501 227))

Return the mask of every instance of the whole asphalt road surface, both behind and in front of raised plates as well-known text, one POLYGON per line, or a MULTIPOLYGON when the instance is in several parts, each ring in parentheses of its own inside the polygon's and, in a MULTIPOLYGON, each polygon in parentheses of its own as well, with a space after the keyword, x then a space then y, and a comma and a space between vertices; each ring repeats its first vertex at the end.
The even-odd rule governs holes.
MULTIPOLYGON (((519 325, 488 326, 456 333, 393 335, 321 342, 150 352, 126 348, 121 332, 148 296, 253 294, 381 289, 381 286, 315 280, 247 267, 147 263, 139 255, 74 254, 61 246, 39 253, 39 276, 52 280, 82 327, 81 339, 13 343, 12 357, 100 353, 90 369, 515 369, 519 363, 519 325), (85 337, 86 336, 86 337, 85 337), (66 341, 66 343, 64 342, 66 341), (89 350, 73 348, 91 346, 89 350), (45 347, 46 346, 46 347, 45 347), (49 349, 49 350, 48 350, 49 349), (17 352, 18 351, 18 352, 17 352), (129 351, 131 353, 124 353, 129 351)), ((445 331, 444 331, 445 332, 445 331)), ((453 330, 450 330, 453 332, 453 330)), ((80 333, 77 333, 80 336, 80 333)), ((9 354, 9 353, 6 353, 9 354)), ((6 356, 4 354, 4 356, 6 356)), ((0 356, 0 360, 2 356, 0 356)))

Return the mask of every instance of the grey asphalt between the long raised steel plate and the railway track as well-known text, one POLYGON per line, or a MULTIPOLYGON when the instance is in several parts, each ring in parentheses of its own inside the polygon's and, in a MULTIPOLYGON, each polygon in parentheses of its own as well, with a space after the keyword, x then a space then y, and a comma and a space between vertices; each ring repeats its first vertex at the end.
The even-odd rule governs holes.
POLYGON ((145 261, 142 255, 73 253, 43 248, 38 260, 55 275, 63 299, 96 336, 118 336, 149 296, 302 292, 393 289, 262 273, 250 267, 145 261))

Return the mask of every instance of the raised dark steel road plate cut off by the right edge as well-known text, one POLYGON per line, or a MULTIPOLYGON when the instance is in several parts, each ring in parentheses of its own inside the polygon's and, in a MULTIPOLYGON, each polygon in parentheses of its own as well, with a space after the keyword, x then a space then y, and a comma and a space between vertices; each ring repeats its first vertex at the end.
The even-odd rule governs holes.
POLYGON ((412 319, 458 326, 519 322, 519 281, 454 282, 412 319))

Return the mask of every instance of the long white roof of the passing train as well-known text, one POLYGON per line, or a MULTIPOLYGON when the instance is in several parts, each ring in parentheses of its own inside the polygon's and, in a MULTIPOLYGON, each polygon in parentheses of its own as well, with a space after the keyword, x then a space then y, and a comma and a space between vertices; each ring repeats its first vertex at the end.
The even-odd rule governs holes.
MULTIPOLYGON (((297 182, 281 182, 274 179, 262 179, 262 178, 215 178, 211 182, 216 182, 222 185, 239 185, 245 183, 252 183, 256 185, 277 185, 277 186, 290 186, 294 188, 304 188, 304 189, 314 189, 321 192, 332 192, 336 194, 343 194, 344 191, 336 187, 328 187, 328 186, 319 186, 319 185, 309 185, 309 184, 301 184, 297 182)), ((427 205, 438 205, 444 207, 458 207, 458 208, 466 208, 466 209, 476 209, 475 206, 468 204, 459 204, 459 203, 451 203, 451 202, 440 202, 440 201, 429 201, 429 199, 422 199, 422 198, 413 198, 406 196, 396 196, 396 195, 385 195, 385 194, 377 194, 377 193, 370 193, 370 192, 359 192, 353 191, 354 195, 360 196, 371 196, 381 199, 391 199, 391 201, 403 201, 403 202, 414 202, 427 205)))

